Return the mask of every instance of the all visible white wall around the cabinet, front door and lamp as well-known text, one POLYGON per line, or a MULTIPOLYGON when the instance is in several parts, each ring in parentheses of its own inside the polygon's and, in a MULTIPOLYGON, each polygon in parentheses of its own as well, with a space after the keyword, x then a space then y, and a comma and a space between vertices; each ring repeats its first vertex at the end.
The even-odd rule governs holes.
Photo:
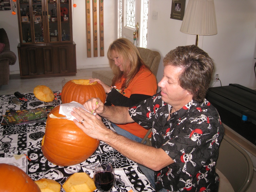
MULTIPOLYGON (((72 0, 73 2, 73 0, 72 0)), ((104 45, 105 56, 87 58, 85 1, 75 1, 73 13, 73 40, 77 44, 77 69, 107 67, 106 52, 116 36, 116 2, 104 1, 104 45)), ((195 44, 195 35, 179 31, 182 21, 170 19, 171 0, 149 0, 148 48, 159 51, 162 59, 177 46, 195 44), (158 12, 158 19, 152 20, 152 12, 158 12)), ((186 4, 188 3, 188 0, 186 4)), ((199 36, 199 47, 215 61, 215 74, 219 74, 222 86, 237 83, 256 89, 253 66, 256 62, 256 1, 215 0, 218 34, 199 36)), ((17 11, 17 10, 16 10, 17 11)), ((11 11, 0 11, 0 28, 7 31, 11 50, 18 57, 19 43, 17 15, 11 11)), ((19 73, 18 60, 10 66, 11 73, 19 73)), ((162 60, 157 74, 160 81, 163 74, 162 60)), ((216 82, 214 86, 220 86, 216 82)))

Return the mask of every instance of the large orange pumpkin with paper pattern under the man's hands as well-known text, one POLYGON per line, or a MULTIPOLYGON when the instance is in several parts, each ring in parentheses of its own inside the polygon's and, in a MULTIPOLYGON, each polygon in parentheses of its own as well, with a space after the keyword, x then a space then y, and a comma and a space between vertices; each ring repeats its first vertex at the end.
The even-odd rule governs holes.
MULTIPOLYGON (((59 114, 59 106, 50 114, 59 114)), ((47 160, 59 166, 79 164, 90 157, 98 148, 100 141, 86 135, 75 123, 67 119, 51 118, 48 115, 42 152, 47 160)))

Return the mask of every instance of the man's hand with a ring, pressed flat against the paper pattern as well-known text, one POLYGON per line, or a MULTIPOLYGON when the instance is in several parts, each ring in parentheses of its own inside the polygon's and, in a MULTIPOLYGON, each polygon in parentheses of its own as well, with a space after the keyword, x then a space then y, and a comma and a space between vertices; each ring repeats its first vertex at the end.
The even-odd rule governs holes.
POLYGON ((71 115, 76 117, 74 123, 79 127, 86 135, 98 139, 104 140, 104 135, 110 131, 103 123, 99 115, 92 115, 91 113, 81 109, 73 108, 74 112, 71 112, 71 115))

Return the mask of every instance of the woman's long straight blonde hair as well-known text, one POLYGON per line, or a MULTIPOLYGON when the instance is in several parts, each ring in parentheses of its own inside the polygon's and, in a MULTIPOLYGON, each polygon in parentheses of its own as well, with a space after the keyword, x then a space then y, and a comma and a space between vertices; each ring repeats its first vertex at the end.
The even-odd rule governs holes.
POLYGON ((120 82, 121 77, 123 76, 126 80, 123 83, 122 88, 127 87, 136 73, 139 72, 141 66, 147 67, 141 59, 138 49, 126 38, 119 38, 112 42, 108 48, 107 56, 110 68, 114 74, 112 86, 114 86, 115 83, 120 82), (115 55, 113 55, 114 52, 119 55, 119 57, 123 58, 123 71, 120 71, 119 67, 115 65, 115 61, 113 60, 115 57, 115 55))

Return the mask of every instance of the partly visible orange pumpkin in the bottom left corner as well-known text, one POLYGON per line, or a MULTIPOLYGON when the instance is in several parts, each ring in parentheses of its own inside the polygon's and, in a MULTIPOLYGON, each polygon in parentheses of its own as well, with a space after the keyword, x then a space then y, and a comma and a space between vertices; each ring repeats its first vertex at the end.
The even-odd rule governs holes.
POLYGON ((0 163, 0 191, 40 192, 38 185, 20 168, 0 163))

